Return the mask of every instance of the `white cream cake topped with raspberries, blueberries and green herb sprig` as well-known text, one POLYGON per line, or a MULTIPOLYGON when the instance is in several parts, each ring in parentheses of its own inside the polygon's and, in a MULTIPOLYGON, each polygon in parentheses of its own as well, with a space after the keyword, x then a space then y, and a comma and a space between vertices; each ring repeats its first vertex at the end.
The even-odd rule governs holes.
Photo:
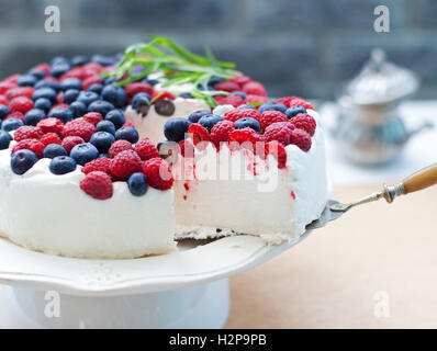
POLYGON ((232 64, 163 37, 4 79, 0 120, 0 235, 32 250, 125 259, 181 237, 279 244, 328 199, 309 102, 270 99, 232 64))

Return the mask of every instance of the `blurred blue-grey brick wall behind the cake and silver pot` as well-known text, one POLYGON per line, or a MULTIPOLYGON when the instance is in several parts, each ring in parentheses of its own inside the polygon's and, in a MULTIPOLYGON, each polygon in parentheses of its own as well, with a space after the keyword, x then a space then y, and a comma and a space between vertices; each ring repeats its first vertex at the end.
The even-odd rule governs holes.
POLYGON ((221 59, 262 81, 271 95, 330 99, 374 46, 416 71, 416 97, 437 92, 437 1, 384 0, 391 33, 373 31, 379 0, 0 0, 0 76, 55 55, 114 54, 147 34, 221 59), (44 9, 60 9, 46 33, 44 9))

